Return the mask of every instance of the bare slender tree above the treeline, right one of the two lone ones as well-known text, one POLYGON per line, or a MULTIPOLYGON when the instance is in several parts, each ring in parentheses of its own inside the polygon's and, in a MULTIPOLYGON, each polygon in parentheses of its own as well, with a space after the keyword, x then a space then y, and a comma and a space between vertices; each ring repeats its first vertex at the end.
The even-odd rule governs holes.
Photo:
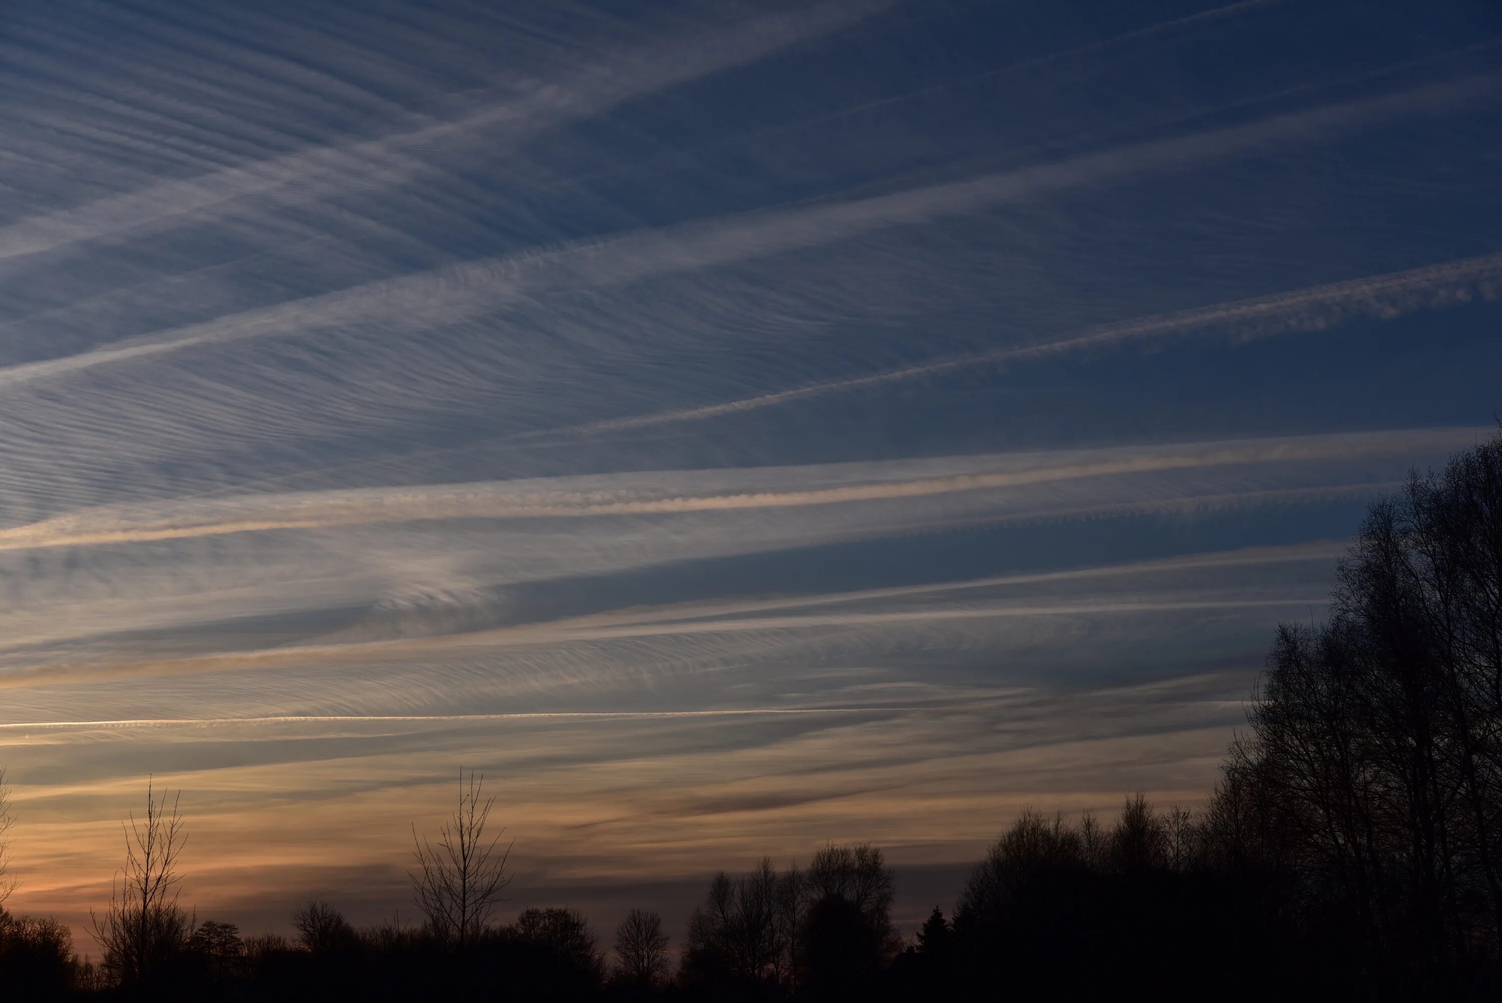
POLYGON ((469 779, 460 770, 460 803, 454 817, 439 829, 437 842, 419 838, 412 829, 418 869, 409 872, 418 907, 428 917, 428 929, 442 940, 466 947, 490 926, 502 892, 511 883, 506 862, 511 844, 485 836, 494 797, 484 797, 485 778, 469 779))

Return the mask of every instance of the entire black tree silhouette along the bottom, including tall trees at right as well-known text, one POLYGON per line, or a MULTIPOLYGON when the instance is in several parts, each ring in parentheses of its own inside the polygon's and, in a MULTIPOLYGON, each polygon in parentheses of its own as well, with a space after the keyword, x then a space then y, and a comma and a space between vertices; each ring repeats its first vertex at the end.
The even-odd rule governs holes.
POLYGON ((876 847, 709 883, 679 943, 632 910, 607 964, 566 908, 494 922, 509 844, 484 779, 416 832, 425 922, 357 929, 327 902, 296 938, 177 901, 186 832, 147 788, 93 917, 102 959, 5 901, 11 1000, 1463 1000, 1502 992, 1502 434, 1368 509, 1329 617, 1284 625, 1203 809, 1126 797, 1110 823, 1024 812, 946 914, 906 941, 876 847))

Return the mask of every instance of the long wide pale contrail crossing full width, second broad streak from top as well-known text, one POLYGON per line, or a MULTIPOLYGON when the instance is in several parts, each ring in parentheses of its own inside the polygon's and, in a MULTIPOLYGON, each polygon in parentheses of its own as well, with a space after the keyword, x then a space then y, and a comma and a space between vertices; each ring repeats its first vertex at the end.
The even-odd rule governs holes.
MULTIPOLYGON (((392 317, 400 317, 409 330, 460 323, 545 290, 622 287, 853 240, 889 227, 931 224, 1077 188, 1260 153, 1287 143, 1328 140, 1401 116, 1493 98, 1499 80, 1502 78, 1488 75, 1430 84, 1398 95, 1328 105, 1251 125, 1143 143, 963 182, 638 231, 604 242, 563 245, 409 275, 141 335, 74 356, 8 366, 0 369, 0 387, 246 338, 290 338, 320 327, 391 323, 392 317)), ((1452 264, 1458 267, 1461 263, 1452 264)), ((1493 275, 1496 266, 1496 261, 1476 260, 1466 267, 1490 269, 1487 275, 1493 275)), ((1272 305, 1265 309, 1272 309, 1272 305)))

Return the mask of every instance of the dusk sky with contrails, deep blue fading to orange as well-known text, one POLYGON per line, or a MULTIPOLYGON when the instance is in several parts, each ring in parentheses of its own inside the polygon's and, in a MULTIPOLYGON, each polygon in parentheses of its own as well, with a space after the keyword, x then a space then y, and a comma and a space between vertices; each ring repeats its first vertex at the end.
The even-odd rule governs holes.
POLYGON ((1494 429, 1499 122, 1490 0, 3 5, 11 907, 149 776, 246 932, 461 769, 602 931, 1199 803, 1494 429))

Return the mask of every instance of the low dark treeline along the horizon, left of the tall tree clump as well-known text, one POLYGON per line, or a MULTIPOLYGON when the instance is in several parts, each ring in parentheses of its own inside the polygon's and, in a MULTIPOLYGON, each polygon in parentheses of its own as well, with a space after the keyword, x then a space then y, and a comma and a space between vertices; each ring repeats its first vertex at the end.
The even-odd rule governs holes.
MULTIPOLYGON (((638 908, 607 944, 569 908, 491 922, 505 853, 487 856, 499 841, 485 841, 479 781, 461 791, 433 847, 442 856, 419 842, 424 922, 356 928, 309 901, 290 916, 291 937, 242 937, 177 904, 182 821, 153 794, 144 820, 128 824, 126 866, 93 919, 101 962, 78 961, 66 926, 6 914, 6 998, 897 1000, 979 998, 999 986, 1032 998, 1057 995, 1063 971, 1066 995, 1108 991, 1123 974, 1215 977, 1239 950, 1281 937, 1236 904, 1250 883, 1217 869, 1221 815, 1155 814, 1136 796, 1110 826, 1024 812, 976 865, 952 919, 934 908, 912 940, 892 925, 894 869, 858 844, 823 847, 805 868, 763 859, 716 874, 679 943, 638 908), (1208 917, 1218 923, 1205 926, 1208 917)), ((1226 988, 1235 997, 1247 986, 1226 988)))

